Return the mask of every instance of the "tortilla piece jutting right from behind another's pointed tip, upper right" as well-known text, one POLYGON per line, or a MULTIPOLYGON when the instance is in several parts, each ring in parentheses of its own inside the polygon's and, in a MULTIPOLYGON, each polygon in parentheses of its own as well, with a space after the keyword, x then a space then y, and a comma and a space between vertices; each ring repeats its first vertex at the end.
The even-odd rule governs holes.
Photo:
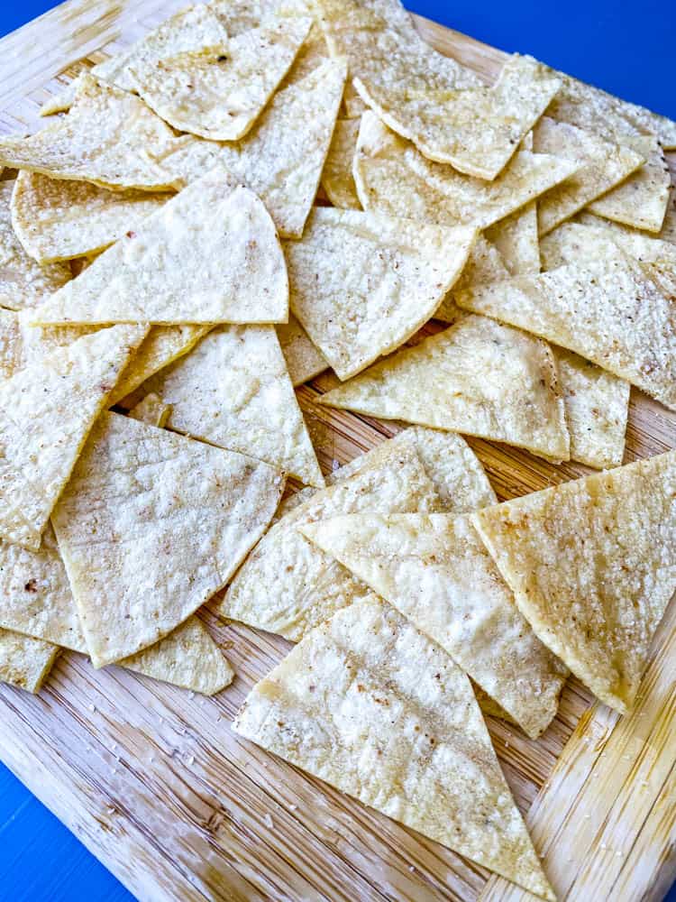
POLYGON ((579 166, 537 202, 540 235, 570 219, 582 207, 643 166, 645 158, 623 144, 543 116, 533 130, 535 152, 551 153, 579 166))

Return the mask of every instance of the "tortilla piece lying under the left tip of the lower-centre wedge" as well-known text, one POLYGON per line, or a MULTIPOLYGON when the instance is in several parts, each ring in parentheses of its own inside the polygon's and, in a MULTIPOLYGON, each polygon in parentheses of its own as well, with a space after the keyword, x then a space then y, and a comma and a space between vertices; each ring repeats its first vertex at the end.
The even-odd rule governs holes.
POLYGON ((439 501, 413 443, 386 442, 365 457, 358 473, 315 492, 269 529, 234 577, 217 613, 297 641, 368 593, 297 526, 341 513, 435 511, 439 501))

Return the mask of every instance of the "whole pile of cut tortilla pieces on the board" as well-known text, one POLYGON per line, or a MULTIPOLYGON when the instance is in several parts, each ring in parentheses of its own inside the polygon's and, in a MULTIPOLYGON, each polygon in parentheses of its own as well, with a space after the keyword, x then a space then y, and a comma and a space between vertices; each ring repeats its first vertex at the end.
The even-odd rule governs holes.
POLYGON ((676 454, 620 466, 630 386, 676 410, 676 124, 486 84, 397 0, 189 6, 42 112, 0 139, 0 678, 214 694, 227 586, 297 642, 236 731, 553 899, 481 712, 535 739, 572 672, 625 713, 676 588, 676 454), (329 368, 411 426, 325 478, 329 368), (498 504, 458 433, 616 469, 498 504))

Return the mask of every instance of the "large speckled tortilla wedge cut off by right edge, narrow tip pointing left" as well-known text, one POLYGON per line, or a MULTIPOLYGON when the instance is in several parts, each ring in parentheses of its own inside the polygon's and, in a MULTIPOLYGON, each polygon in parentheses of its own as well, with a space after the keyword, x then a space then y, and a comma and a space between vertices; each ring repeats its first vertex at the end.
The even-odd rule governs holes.
POLYGON ((619 248, 599 260, 457 292, 461 307, 527 329, 676 410, 676 310, 619 248))

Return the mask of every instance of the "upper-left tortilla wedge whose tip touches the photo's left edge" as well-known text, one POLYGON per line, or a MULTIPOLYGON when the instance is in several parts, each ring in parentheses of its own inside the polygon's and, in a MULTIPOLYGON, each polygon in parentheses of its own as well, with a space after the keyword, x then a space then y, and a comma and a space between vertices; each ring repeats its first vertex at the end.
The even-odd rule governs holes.
POLYGON ((150 151, 170 141, 169 126, 142 100, 83 75, 68 115, 27 138, 0 139, 0 165, 102 188, 161 191, 175 179, 150 151))

